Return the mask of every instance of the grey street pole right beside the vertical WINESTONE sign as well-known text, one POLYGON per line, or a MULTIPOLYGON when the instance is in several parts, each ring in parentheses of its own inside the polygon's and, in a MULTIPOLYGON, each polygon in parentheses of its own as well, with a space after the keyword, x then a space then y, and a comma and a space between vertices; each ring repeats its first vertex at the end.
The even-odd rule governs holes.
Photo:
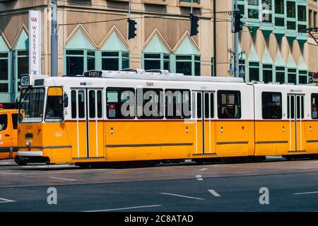
POLYGON ((51 22, 51 76, 59 76, 58 71, 58 35, 57 35, 57 0, 52 0, 52 22, 51 22))

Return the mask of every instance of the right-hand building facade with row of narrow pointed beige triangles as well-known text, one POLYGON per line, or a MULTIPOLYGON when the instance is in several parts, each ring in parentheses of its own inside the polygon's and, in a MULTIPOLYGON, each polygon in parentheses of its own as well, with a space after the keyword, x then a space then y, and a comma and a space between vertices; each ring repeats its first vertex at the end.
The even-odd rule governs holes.
POLYGON ((246 81, 308 83, 317 71, 317 1, 238 0, 245 26, 240 34, 240 71, 246 81), (243 54, 244 52, 244 54, 243 54))

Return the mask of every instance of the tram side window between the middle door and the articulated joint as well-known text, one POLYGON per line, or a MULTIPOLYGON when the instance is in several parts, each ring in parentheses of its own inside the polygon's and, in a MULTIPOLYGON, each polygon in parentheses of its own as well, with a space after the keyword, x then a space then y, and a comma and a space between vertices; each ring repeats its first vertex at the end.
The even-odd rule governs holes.
POLYGON ((235 90, 218 90, 218 118, 241 118, 241 93, 235 90))

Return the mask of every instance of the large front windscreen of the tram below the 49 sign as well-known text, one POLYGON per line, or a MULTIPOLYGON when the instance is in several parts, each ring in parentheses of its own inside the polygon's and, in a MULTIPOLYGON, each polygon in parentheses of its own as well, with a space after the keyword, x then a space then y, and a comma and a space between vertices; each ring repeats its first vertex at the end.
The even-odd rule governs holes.
POLYGON ((41 122, 43 119, 45 88, 24 88, 21 90, 20 110, 25 112, 20 122, 41 122))

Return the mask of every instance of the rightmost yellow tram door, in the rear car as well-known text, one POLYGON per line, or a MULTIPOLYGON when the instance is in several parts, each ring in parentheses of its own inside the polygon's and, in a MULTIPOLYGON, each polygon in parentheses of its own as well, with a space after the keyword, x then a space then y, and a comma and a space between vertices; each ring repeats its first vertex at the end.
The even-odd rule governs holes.
POLYGON ((289 152, 305 150, 305 95, 288 94, 289 152))

